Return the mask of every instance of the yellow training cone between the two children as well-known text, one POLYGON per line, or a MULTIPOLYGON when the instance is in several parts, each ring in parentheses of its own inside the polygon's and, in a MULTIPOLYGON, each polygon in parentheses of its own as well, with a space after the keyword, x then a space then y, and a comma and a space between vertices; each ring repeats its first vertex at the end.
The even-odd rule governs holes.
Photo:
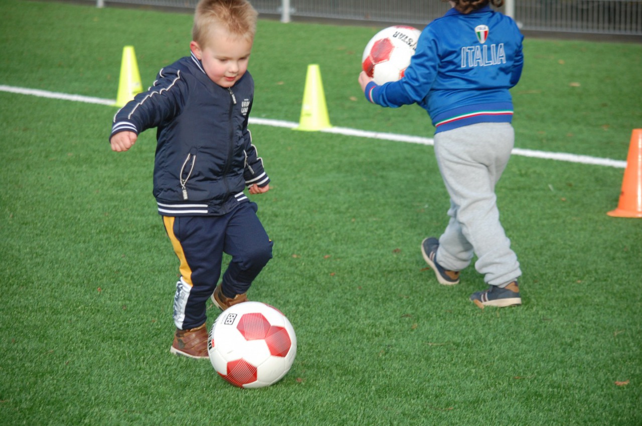
POLYGON ((325 94, 321 81, 321 72, 316 64, 308 65, 306 75, 306 87, 303 93, 303 106, 301 107, 301 118, 299 127, 295 130, 317 131, 332 127, 327 116, 325 105, 325 94))

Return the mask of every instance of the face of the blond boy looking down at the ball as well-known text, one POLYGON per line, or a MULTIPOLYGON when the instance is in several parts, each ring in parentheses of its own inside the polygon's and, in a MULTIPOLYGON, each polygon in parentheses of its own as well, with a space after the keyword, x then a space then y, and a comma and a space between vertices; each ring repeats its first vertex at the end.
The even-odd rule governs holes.
POLYGON ((210 31, 204 46, 192 41, 189 47, 202 61, 205 74, 214 83, 232 87, 247 71, 252 40, 216 28, 210 31))

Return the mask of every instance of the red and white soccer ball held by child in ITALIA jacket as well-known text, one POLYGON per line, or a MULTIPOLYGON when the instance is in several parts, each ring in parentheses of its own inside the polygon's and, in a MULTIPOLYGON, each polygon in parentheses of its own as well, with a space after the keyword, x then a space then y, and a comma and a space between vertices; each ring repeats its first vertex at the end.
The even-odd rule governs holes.
POLYGON ((382 29, 365 46, 361 67, 377 85, 397 81, 410 65, 420 34, 419 29, 410 26, 382 29))

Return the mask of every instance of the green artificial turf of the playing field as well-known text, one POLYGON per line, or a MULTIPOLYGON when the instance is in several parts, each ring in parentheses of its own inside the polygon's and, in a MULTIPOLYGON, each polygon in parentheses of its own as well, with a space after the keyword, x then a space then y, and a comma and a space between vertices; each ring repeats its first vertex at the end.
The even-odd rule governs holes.
MULTIPOLYGON (((0 85, 116 99, 125 45, 145 87, 189 53, 185 13, 0 13, 0 85)), ((253 117, 297 122, 318 63, 334 126, 431 137, 420 108, 363 99, 377 29, 261 20, 253 117)), ((625 160, 642 45, 528 38, 525 54, 516 147, 625 160)), ((178 261, 151 194, 155 132, 116 154, 114 107, 0 91, 0 111, 1 424, 642 423, 642 222, 606 215, 622 168, 510 160, 497 192, 523 306, 482 310, 472 266, 440 286, 421 258, 447 223, 431 146, 253 125, 274 257, 249 296, 290 318, 299 351, 281 382, 244 390, 169 354, 178 261)))

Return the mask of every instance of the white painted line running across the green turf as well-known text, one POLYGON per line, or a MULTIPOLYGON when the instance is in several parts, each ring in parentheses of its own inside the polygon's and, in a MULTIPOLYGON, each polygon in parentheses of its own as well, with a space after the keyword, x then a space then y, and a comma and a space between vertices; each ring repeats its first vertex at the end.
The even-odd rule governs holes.
MULTIPOLYGON (((0 91, 12 92, 12 93, 17 93, 22 95, 49 97, 53 99, 63 99, 65 101, 87 102, 90 104, 101 104, 101 105, 108 105, 108 106, 114 106, 114 104, 116 104, 116 101, 114 99, 101 99, 98 97, 89 97, 89 96, 82 96, 82 95, 68 95, 68 94, 57 93, 57 92, 48 92, 46 90, 28 89, 28 88, 14 87, 14 86, 0 85, 0 91)), ((259 124, 263 126, 286 127, 290 129, 294 129, 295 127, 299 126, 299 123, 291 122, 291 121, 259 119, 259 118, 252 118, 252 117, 250 117, 250 123, 259 124)), ((322 129, 320 131, 324 133, 336 133, 338 135, 356 136, 359 138, 391 140, 395 142, 420 143, 422 145, 433 145, 434 143, 434 140, 432 138, 424 138, 421 136, 412 136, 412 135, 397 135, 395 133, 365 131, 365 130, 358 130, 358 129, 350 129, 348 127, 330 127, 329 129, 322 129)), ((569 163, 592 164, 592 165, 600 165, 600 166, 616 167, 616 168, 627 167, 626 161, 611 160, 611 158, 598 158, 598 157, 591 157, 591 156, 578 155, 578 154, 568 154, 566 152, 546 152, 546 151, 535 151, 533 149, 514 148, 512 153, 518 156, 542 158, 544 160, 568 161, 569 163)))

